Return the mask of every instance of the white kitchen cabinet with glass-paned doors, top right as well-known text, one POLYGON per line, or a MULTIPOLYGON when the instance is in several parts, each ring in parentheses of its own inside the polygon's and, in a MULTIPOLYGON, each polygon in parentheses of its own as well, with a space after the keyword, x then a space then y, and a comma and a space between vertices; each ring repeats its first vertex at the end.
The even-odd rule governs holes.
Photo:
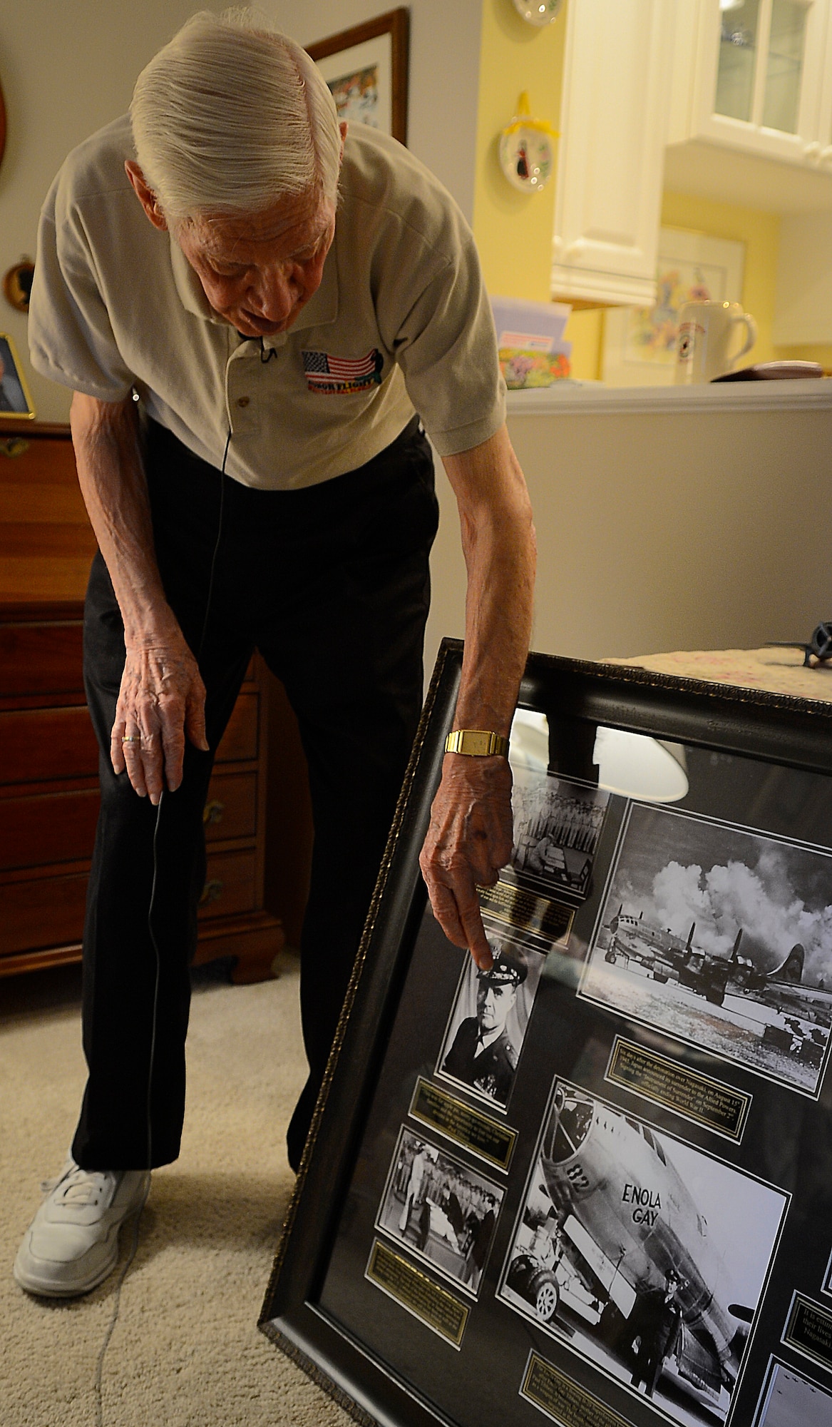
POLYGON ((831 0, 680 0, 670 143, 828 168, 831 0))

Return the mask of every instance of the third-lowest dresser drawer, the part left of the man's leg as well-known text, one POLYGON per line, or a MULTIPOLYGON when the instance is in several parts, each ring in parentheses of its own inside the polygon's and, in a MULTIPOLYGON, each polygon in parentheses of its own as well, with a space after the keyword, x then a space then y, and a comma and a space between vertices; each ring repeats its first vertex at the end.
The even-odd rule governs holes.
POLYGON ((0 783, 97 773, 98 745, 85 705, 0 714, 0 783))

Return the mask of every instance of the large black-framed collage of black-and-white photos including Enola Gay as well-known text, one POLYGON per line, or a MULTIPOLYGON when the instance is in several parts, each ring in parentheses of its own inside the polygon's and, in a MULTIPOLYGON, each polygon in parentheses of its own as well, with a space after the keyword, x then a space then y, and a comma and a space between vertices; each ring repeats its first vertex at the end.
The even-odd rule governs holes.
POLYGON ((444 641, 261 1327, 365 1427, 821 1427, 832 705, 531 655, 477 973, 419 872, 460 669, 444 641))

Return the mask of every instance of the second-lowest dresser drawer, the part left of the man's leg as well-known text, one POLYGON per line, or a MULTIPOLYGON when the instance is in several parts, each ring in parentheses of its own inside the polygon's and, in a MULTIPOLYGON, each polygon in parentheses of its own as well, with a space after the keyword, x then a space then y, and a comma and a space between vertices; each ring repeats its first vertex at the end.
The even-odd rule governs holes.
POLYGON ((0 799, 0 870, 91 858, 97 819, 97 788, 0 799))

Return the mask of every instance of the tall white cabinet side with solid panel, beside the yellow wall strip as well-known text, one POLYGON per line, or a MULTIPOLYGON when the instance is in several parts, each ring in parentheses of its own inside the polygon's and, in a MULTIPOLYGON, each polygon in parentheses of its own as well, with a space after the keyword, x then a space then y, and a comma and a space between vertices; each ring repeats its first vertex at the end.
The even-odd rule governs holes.
POLYGON ((560 116, 551 295, 655 297, 674 13, 692 0, 571 0, 560 116))

